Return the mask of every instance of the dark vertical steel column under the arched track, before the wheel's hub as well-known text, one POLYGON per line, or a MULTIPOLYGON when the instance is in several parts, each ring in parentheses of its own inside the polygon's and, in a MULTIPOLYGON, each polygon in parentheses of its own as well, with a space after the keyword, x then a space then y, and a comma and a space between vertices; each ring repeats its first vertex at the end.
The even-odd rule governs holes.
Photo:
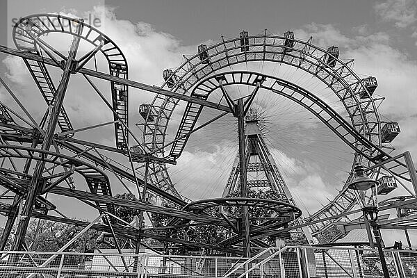
MULTIPOLYGON (((240 167, 240 197, 247 197, 246 180, 246 154, 245 154, 245 110, 243 100, 238 100, 236 106, 236 117, 238 118, 238 140, 239 140, 239 167, 240 167)), ((247 206, 242 207, 243 226, 243 255, 250 258, 250 236, 249 236, 249 213, 247 206)))

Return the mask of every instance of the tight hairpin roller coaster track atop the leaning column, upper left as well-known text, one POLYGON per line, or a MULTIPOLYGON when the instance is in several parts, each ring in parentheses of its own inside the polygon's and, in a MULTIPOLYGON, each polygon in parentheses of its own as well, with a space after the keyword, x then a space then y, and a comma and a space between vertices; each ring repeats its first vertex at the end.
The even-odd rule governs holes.
MULTIPOLYGON (((49 33, 66 33, 76 36, 78 34, 76 33, 76 28, 74 28, 74 22, 83 25, 83 31, 81 35, 79 35, 81 39, 90 42, 90 44, 95 47, 95 51, 101 51, 101 54, 106 57, 110 74, 123 79, 128 79, 127 61, 120 48, 97 28, 83 22, 79 22, 78 19, 54 14, 37 14, 23 17, 13 28, 13 40, 17 49, 22 51, 29 51, 33 54, 41 56, 44 55, 45 51, 53 51, 57 54, 58 51, 56 51, 54 47, 51 47, 46 42, 42 41, 40 37, 42 37, 42 35, 48 35, 49 33), (43 52, 42 49, 44 49, 43 52)), ((95 54, 95 52, 91 53, 95 54)), ((60 55, 58 54, 58 56, 60 55)), ((85 56, 83 58, 85 58, 85 60, 81 61, 81 66, 83 63, 86 63, 89 58, 92 58, 92 56, 85 56)), ((26 63, 29 72, 31 72, 36 85, 38 85, 38 88, 47 102, 47 105, 54 105, 56 86, 51 79, 46 65, 44 63, 27 59, 24 59, 24 62, 26 63)), ((56 60, 56 62, 58 62, 58 60, 56 60)), ((59 66, 58 63, 57 65, 59 66)), ((128 124, 128 86, 111 81, 111 95, 113 100, 113 109, 116 111, 120 119, 128 124)), ((114 115, 114 120, 118 120, 116 115, 114 115)), ((63 132, 71 131, 73 129, 64 108, 61 108, 59 113, 58 124, 63 132)), ((68 133, 67 136, 72 135, 73 133, 68 133)), ((116 123, 116 147, 118 149, 126 150, 128 147, 125 143, 127 142, 127 139, 128 136, 126 129, 122 129, 122 126, 116 123)))

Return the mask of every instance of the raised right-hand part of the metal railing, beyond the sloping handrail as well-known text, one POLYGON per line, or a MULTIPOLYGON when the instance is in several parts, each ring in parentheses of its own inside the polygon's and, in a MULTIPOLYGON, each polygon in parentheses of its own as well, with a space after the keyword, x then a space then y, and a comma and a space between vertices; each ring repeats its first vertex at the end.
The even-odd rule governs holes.
MULTIPOLYGON (((263 260, 239 265, 229 277, 384 278, 377 250, 349 247, 287 246, 263 260)), ((417 251, 385 250, 390 277, 416 278, 417 251)))

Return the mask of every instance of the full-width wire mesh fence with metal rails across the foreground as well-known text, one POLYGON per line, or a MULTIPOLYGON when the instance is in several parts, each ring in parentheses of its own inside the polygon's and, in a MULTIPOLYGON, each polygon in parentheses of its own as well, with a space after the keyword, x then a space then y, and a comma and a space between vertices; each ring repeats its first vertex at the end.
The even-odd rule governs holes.
MULTIPOLYGON (((386 250, 390 277, 416 278, 417 252, 386 250)), ((3 252, 0 277, 379 278, 377 250, 342 247, 269 248, 252 259, 157 254, 3 252)))

